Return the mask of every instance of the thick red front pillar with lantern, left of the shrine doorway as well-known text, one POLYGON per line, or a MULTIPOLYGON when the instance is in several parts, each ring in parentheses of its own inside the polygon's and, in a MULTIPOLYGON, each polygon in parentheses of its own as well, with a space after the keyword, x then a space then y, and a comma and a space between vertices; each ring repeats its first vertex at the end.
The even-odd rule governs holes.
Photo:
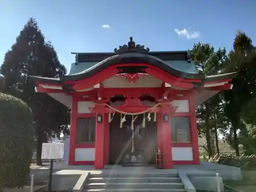
POLYGON ((95 134, 95 169, 104 168, 104 106, 97 106, 96 114, 96 134, 95 134), (97 122, 97 115, 101 115, 101 122, 97 122))

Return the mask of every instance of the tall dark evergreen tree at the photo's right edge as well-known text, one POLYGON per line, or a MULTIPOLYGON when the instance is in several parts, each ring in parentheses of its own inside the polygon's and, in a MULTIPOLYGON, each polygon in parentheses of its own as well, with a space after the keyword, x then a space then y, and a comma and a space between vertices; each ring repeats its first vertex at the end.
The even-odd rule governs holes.
POLYGON ((238 72, 232 79, 232 90, 224 92, 224 112, 230 121, 229 142, 239 156, 239 143, 244 145, 247 151, 251 144, 248 144, 250 137, 246 124, 241 121, 241 113, 245 116, 247 112, 243 108, 256 96, 256 65, 255 48, 252 40, 243 32, 238 32, 233 42, 233 51, 228 55, 225 72, 238 72))

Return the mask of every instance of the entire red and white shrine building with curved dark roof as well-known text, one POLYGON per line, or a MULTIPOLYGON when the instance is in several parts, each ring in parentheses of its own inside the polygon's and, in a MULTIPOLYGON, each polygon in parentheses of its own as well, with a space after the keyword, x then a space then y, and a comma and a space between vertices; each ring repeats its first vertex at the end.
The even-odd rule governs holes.
POLYGON ((150 52, 127 45, 111 53, 75 53, 70 73, 31 76, 35 91, 71 109, 70 165, 197 165, 195 109, 234 75, 199 74, 189 51, 150 52))

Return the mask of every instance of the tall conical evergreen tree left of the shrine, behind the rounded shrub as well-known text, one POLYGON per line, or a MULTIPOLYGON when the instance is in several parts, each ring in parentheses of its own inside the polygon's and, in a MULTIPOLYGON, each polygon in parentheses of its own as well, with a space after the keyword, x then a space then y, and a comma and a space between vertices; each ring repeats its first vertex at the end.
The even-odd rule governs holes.
MULTIPOLYGON (((28 76, 58 77, 66 74, 57 54, 46 42, 36 21, 30 18, 6 53, 1 73, 7 93, 24 100, 32 109, 36 127, 37 164, 41 165, 42 142, 52 131, 58 133, 61 125, 69 123, 69 110, 47 94, 35 93, 34 82, 28 76)), ((61 126, 62 127, 62 126, 61 126)))

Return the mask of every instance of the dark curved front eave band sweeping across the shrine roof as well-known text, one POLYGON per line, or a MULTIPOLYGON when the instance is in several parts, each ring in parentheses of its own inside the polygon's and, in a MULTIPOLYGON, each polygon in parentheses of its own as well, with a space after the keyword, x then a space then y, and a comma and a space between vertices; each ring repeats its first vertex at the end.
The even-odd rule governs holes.
POLYGON ((34 80, 39 80, 40 82, 45 83, 53 83, 53 84, 61 84, 65 81, 75 81, 86 79, 94 76, 95 74, 103 71, 104 69, 117 65, 118 63, 149 63, 155 67, 160 68, 161 70, 168 72, 177 77, 181 77, 184 79, 200 79, 202 81, 216 81, 220 79, 232 78, 236 73, 228 73, 228 74, 220 74, 220 75, 205 75, 198 73, 187 73, 176 70, 175 68, 167 65, 167 63, 157 57, 152 55, 140 54, 140 53, 127 53, 121 55, 114 55, 109 58, 102 60, 101 62, 96 63, 92 67, 83 70, 78 73, 62 76, 60 78, 49 78, 49 77, 37 77, 30 76, 34 80))

